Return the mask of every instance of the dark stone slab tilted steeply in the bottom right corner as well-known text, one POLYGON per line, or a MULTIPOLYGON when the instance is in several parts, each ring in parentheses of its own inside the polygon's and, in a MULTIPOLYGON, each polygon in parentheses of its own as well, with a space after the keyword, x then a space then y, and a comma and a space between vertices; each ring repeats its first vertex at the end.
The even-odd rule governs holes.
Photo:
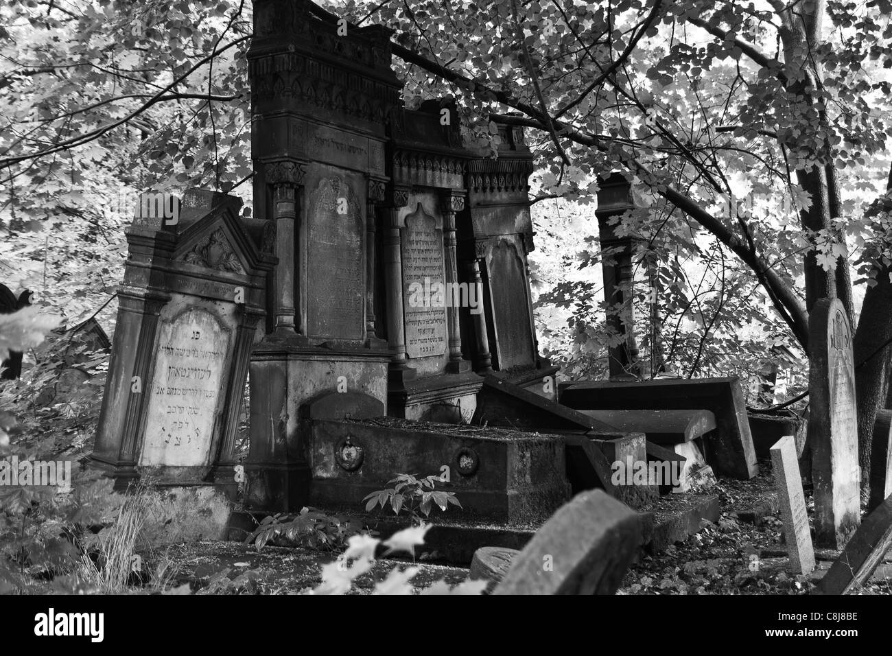
POLYGON ((827 575, 818 584, 823 594, 848 594, 864 585, 883 556, 892 546, 892 498, 864 518, 863 524, 855 531, 830 567, 827 575))

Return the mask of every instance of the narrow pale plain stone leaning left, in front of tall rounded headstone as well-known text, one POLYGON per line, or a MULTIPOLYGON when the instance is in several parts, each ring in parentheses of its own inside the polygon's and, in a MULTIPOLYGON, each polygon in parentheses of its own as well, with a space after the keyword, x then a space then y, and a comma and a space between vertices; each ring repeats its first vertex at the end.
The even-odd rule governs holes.
POLYGON ((781 437, 771 448, 774 484, 778 488, 780 515, 787 538, 790 567, 797 574, 808 574, 814 569, 812 531, 808 526, 802 476, 793 436, 781 437))

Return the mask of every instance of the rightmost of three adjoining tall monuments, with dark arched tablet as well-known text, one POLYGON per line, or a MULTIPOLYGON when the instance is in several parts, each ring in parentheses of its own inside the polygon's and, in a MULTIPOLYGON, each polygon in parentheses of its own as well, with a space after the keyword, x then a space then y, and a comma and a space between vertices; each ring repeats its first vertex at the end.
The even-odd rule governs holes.
POLYGON ((523 129, 499 126, 498 159, 467 162, 467 210, 458 216, 461 275, 483 290, 483 314, 462 311, 462 344, 475 371, 554 400, 558 368, 536 340, 530 271, 533 221, 527 179, 533 154, 523 129))

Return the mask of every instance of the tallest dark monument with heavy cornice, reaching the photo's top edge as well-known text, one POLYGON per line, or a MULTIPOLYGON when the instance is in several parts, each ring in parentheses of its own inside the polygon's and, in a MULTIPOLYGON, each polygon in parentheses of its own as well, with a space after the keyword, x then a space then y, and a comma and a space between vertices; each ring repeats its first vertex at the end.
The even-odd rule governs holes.
POLYGON ((302 406, 328 392, 388 403, 391 317, 377 255, 392 235, 382 236, 377 206, 393 204, 385 145, 401 82, 383 26, 343 34, 338 17, 307 0, 257 0, 253 9, 254 211, 274 228, 278 263, 251 355, 245 501, 300 511, 312 477, 302 406))

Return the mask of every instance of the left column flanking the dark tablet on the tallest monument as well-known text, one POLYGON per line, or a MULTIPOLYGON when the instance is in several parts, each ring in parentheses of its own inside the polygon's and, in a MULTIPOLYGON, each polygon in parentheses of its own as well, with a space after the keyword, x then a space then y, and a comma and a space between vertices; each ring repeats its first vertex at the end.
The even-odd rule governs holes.
POLYGON ((294 333, 297 314, 294 307, 297 249, 294 248, 297 220, 298 187, 303 181, 304 166, 296 162, 267 164, 266 180, 273 187, 273 216, 276 221, 276 255, 274 274, 273 326, 277 333, 294 333))

